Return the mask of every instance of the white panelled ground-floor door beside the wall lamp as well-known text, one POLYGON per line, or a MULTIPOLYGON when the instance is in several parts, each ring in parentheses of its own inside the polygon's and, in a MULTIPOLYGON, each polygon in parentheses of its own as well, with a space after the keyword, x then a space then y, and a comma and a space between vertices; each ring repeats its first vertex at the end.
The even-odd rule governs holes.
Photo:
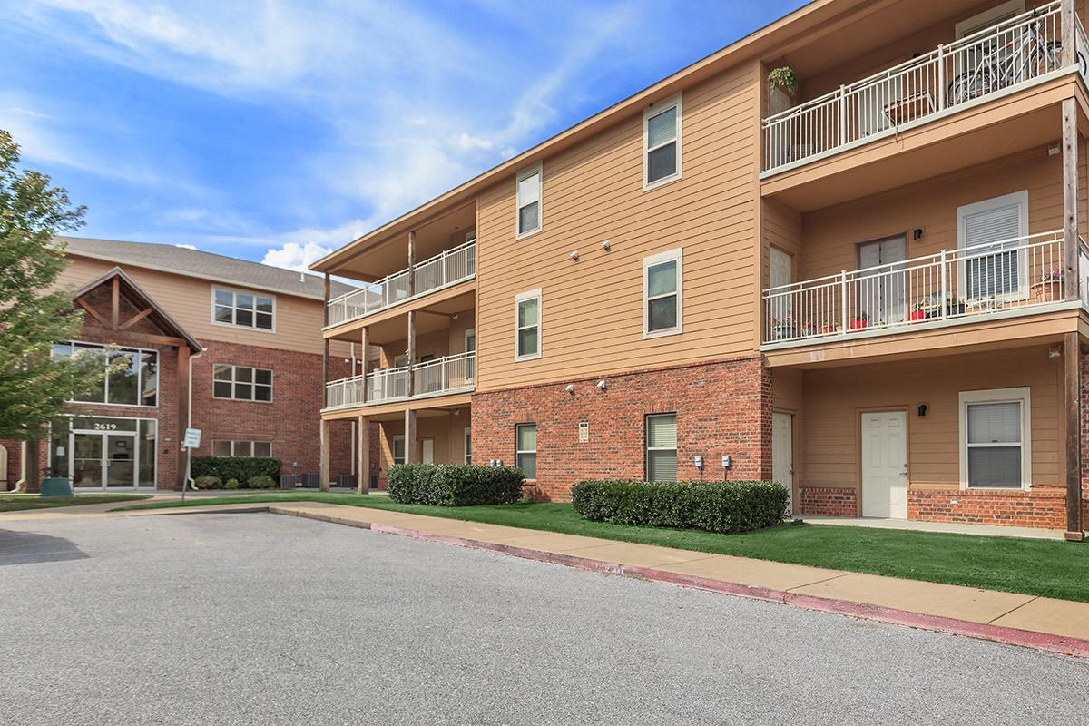
POLYGON ((862 516, 907 519, 907 414, 862 414, 862 516))

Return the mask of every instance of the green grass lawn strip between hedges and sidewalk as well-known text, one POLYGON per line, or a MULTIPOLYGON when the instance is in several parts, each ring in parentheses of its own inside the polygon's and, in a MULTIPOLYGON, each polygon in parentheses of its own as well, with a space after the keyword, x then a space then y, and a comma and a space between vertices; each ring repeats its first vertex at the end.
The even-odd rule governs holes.
POLYGON ((865 527, 783 526, 747 534, 633 527, 580 518, 568 504, 433 507, 384 496, 285 492, 193 499, 124 507, 146 509, 258 502, 328 502, 450 519, 524 527, 682 550, 888 575, 1089 602, 1089 546, 1055 540, 972 537, 865 527))

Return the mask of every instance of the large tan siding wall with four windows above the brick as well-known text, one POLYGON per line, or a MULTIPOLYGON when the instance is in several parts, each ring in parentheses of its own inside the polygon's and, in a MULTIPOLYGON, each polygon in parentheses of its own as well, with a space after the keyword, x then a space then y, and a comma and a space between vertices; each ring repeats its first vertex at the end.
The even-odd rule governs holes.
POLYGON ((755 70, 684 91, 680 181, 644 192, 640 113, 544 159, 539 234, 514 239, 513 174, 481 195, 478 390, 752 349, 755 70), (684 332, 644 340, 643 259, 678 247, 684 332), (542 355, 515 364, 514 297, 538 287, 542 355))

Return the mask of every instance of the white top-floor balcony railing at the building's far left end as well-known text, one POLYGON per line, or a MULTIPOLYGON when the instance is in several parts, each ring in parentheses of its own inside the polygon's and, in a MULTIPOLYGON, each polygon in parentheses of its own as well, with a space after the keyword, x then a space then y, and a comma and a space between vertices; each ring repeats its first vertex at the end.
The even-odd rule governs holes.
POLYGON ((394 272, 329 300, 329 324, 355 320, 409 297, 473 278, 476 274, 476 239, 417 262, 413 269, 416 272, 416 291, 412 295, 408 293, 408 270, 394 272))

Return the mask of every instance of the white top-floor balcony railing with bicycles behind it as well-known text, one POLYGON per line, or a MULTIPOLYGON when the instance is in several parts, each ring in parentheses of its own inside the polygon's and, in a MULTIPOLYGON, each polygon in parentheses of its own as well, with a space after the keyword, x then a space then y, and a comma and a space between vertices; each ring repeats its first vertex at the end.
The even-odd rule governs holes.
MULTIPOLYGON (((1061 26, 1056 0, 768 116, 762 122, 762 171, 895 133, 1057 71, 1061 26)), ((1075 35, 1082 46, 1084 29, 1075 35)), ((1085 73, 1085 54, 1080 47, 1078 51, 1085 73)))

